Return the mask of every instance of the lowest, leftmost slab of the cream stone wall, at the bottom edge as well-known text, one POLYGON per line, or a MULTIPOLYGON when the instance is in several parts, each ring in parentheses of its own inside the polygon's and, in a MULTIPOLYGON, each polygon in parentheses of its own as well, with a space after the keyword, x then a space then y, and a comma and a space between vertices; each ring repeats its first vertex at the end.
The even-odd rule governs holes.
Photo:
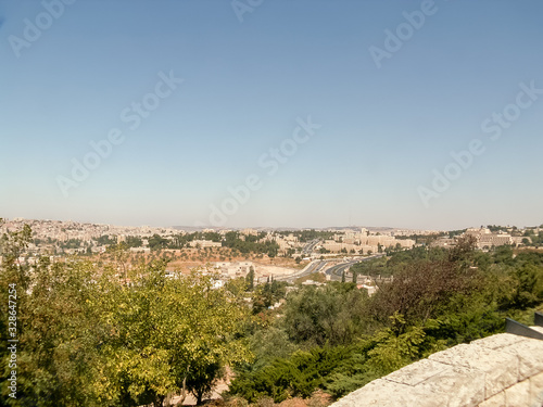
POLYGON ((446 397, 442 394, 432 394, 406 384, 378 379, 364 387, 340 398, 334 407, 443 407, 446 397))

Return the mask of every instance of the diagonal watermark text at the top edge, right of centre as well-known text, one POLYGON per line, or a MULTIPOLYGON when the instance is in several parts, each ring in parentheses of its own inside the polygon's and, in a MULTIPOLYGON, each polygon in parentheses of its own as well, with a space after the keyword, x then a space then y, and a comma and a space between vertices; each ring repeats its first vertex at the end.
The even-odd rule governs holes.
POLYGON ((382 60, 390 60, 394 53, 400 51, 405 42, 413 38, 425 25, 427 17, 434 15, 438 12, 438 5, 433 0, 422 0, 419 10, 412 12, 404 11, 402 13, 404 22, 400 23, 394 30, 384 30, 384 41, 382 48, 370 46, 369 54, 374 60, 377 68, 382 67, 382 60))

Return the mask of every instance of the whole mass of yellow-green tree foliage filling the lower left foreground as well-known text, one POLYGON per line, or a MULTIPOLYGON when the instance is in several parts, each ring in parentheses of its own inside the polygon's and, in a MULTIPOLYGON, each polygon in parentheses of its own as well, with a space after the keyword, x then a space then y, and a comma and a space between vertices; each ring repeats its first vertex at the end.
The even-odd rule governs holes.
POLYGON ((249 360, 240 334, 245 307, 230 291, 213 289, 212 277, 166 278, 164 262, 121 276, 48 258, 29 269, 16 262, 25 242, 17 233, 2 242, 0 301, 8 303, 15 283, 20 340, 16 399, 8 397, 9 355, 0 351, 5 405, 162 406, 166 395, 184 392, 201 403, 225 365, 249 360))

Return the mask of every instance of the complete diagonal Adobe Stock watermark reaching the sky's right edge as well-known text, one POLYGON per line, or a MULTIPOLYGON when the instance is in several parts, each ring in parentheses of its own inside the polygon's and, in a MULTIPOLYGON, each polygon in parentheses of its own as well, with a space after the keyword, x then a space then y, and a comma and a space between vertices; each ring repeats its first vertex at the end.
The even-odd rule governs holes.
MULTIPOLYGON (((536 88, 534 80, 531 80, 529 85, 520 82, 518 87, 520 91, 514 102, 507 104, 501 112, 492 112, 489 117, 481 122, 481 131, 488 135, 487 137, 491 141, 498 140, 503 131, 520 118, 522 111, 531 107, 543 94, 543 88, 536 88)), ((440 198, 442 193, 451 188, 452 182, 457 180, 473 164, 475 158, 487 151, 484 144, 484 140, 473 138, 469 141, 466 150, 451 152, 450 155, 453 160, 445 165, 442 171, 435 168, 432 169, 433 179, 431 186, 419 186, 417 188, 418 195, 425 207, 430 207, 430 200, 440 198)))

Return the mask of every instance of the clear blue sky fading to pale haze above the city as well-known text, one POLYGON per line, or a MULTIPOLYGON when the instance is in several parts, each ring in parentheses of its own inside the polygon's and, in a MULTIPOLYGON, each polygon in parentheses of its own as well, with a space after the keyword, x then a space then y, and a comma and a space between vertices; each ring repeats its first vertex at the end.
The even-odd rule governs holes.
POLYGON ((543 222, 542 1, 0 1, 0 216, 543 222))

